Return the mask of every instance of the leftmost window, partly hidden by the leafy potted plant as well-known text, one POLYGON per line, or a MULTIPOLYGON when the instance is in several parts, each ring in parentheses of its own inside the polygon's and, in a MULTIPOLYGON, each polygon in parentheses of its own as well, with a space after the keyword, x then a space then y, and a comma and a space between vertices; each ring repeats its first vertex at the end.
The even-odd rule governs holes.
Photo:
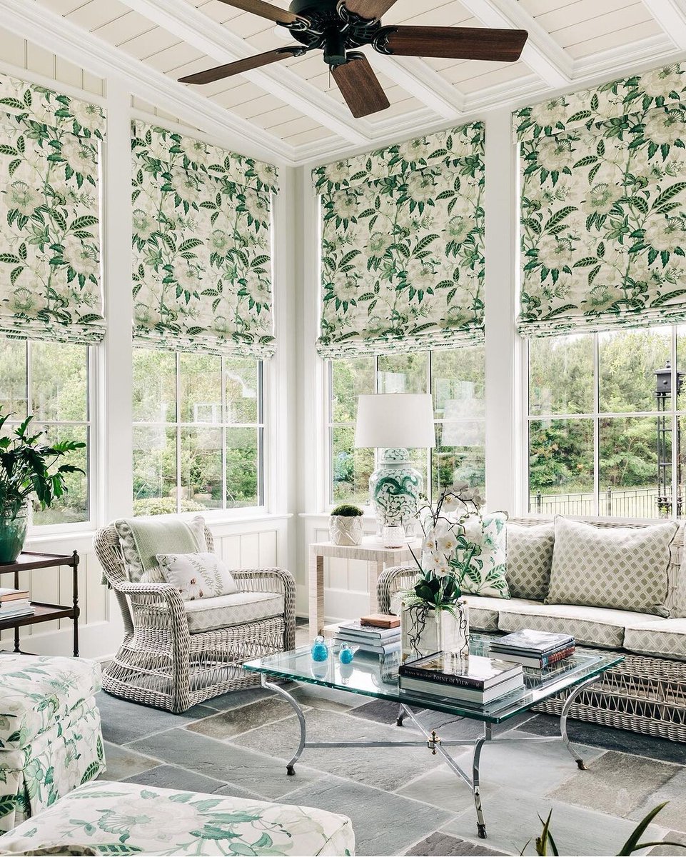
POLYGON ((87 345, 0 338, 0 408, 12 414, 15 428, 33 414, 33 425, 51 442, 80 440, 84 449, 63 458, 83 473, 66 477, 67 494, 44 511, 33 512, 33 524, 76 524, 90 518, 89 470, 91 421, 87 345))

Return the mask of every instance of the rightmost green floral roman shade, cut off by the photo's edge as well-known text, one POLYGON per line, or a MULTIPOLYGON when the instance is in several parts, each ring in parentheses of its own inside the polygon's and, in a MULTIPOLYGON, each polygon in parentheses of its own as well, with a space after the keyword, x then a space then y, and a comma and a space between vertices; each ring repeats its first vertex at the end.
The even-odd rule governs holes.
POLYGON ((513 114, 523 335, 686 319, 685 70, 513 114))

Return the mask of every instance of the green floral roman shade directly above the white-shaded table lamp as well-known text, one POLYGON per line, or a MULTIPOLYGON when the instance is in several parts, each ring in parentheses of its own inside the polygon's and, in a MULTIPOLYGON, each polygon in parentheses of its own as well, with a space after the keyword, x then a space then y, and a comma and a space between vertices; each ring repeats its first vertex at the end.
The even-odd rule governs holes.
POLYGON ((474 123, 313 171, 323 357, 483 339, 483 157, 474 123))

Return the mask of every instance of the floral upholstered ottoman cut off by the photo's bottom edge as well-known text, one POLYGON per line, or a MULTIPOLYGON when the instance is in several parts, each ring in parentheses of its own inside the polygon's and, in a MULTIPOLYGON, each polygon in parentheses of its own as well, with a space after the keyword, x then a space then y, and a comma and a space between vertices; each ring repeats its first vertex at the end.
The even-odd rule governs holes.
POLYGON ((350 819, 307 806, 89 782, 0 836, 0 854, 355 854, 350 819))

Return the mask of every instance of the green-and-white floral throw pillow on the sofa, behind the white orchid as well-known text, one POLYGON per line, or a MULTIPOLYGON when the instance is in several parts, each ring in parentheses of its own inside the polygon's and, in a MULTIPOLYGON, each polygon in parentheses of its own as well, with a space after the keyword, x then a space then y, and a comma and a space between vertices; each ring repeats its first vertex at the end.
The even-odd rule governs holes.
POLYGON ((457 548, 456 560, 465 563, 475 548, 466 572, 462 575, 462 591, 465 595, 509 598, 505 572, 507 570, 507 523, 506 512, 493 512, 484 518, 468 518, 464 524, 464 535, 469 546, 457 548))

